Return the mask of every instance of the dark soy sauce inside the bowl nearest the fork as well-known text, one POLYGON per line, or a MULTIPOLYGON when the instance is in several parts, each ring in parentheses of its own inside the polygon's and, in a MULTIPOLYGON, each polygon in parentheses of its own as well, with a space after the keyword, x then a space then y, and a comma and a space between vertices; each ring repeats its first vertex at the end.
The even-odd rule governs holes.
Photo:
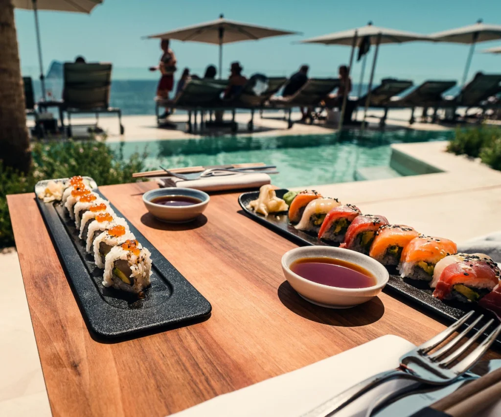
POLYGON ((368 288, 377 284, 367 269, 337 258, 300 258, 291 263, 290 269, 309 281, 331 287, 368 288))

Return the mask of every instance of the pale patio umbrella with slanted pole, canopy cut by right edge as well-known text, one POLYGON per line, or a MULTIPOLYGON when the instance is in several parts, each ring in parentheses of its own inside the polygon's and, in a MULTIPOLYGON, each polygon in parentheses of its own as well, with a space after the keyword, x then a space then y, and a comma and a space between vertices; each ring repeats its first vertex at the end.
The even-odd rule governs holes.
POLYGON ((468 77, 468 72, 473 57, 475 45, 478 42, 493 41, 501 39, 501 25, 486 25, 479 19, 474 25, 463 26, 461 28, 449 29, 448 31, 437 32, 430 35, 433 41, 452 42, 456 44, 470 44, 466 66, 464 67, 461 86, 464 86, 468 77))

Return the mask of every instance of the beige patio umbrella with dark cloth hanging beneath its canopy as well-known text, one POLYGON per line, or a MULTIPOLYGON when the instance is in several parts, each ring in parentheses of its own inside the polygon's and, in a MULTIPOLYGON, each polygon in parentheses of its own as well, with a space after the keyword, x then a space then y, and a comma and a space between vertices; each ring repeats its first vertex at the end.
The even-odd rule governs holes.
MULTIPOLYGON (((372 61, 372 70, 369 78, 369 91, 367 93, 367 99, 365 101, 365 111, 364 111, 364 122, 365 116, 367 114, 367 108, 370 103, 372 83, 374 81, 374 71, 376 69, 377 56, 379 52, 379 45, 381 44, 401 44, 403 42, 411 41, 429 41, 429 38, 425 35, 419 35, 412 32, 396 31, 394 29, 380 28, 373 26, 371 22, 368 25, 361 28, 350 29, 348 31, 335 32, 329 35, 323 35, 316 38, 306 39, 301 41, 302 44, 323 44, 323 45, 349 45, 351 46, 350 54, 350 64, 348 66, 348 76, 351 71, 353 64, 353 55, 355 53, 355 48, 359 47, 362 42, 366 42, 369 39, 371 45, 376 45, 376 50, 374 52, 374 58, 372 61)), ((344 95, 343 106, 341 109, 341 119, 339 121, 339 129, 343 126, 343 118, 346 110, 346 100, 347 95, 344 95)))

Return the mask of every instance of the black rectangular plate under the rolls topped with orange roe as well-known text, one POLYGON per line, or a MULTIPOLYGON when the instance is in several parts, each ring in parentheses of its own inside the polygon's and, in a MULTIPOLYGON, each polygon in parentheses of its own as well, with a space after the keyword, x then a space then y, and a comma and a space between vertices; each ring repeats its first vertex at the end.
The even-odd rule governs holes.
MULTIPOLYGON (((99 190, 94 191, 106 199, 99 190)), ((188 324, 210 314, 210 303, 131 223, 130 231, 151 252, 151 286, 145 290, 143 299, 106 288, 102 284, 103 270, 94 264, 94 255, 86 252, 75 222, 62 204, 36 200, 84 319, 96 335, 127 338, 188 324)), ((110 206, 117 216, 123 217, 113 204, 110 206)))

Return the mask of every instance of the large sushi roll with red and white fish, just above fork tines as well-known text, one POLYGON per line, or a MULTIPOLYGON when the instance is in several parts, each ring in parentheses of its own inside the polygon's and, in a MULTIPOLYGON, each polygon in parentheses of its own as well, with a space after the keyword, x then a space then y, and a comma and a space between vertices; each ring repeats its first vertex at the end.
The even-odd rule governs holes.
POLYGON ((477 255, 447 265, 436 283, 433 296, 439 300, 478 302, 499 284, 499 268, 477 255))

